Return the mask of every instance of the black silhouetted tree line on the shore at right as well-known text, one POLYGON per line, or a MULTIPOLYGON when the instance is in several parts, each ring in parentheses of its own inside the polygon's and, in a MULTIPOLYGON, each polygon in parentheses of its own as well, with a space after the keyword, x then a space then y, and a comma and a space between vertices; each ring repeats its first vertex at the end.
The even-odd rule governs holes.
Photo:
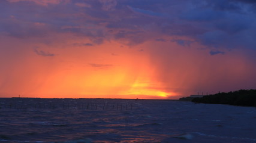
POLYGON ((192 102, 256 107, 256 89, 241 89, 234 92, 222 92, 214 95, 207 95, 201 98, 194 98, 192 99, 192 102))

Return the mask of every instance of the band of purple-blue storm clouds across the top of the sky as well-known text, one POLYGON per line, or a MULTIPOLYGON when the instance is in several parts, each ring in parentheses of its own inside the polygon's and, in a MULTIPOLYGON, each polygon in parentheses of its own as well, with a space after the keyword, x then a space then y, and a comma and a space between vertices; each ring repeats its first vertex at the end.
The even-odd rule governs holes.
MULTIPOLYGON (((4 1, 0 12, 0 32, 17 38, 55 32, 82 36, 94 44, 115 39, 137 45, 160 41, 153 34, 158 33, 185 36, 206 47, 256 45, 255 1, 4 1)), ((174 42, 191 44, 184 39, 174 42)))

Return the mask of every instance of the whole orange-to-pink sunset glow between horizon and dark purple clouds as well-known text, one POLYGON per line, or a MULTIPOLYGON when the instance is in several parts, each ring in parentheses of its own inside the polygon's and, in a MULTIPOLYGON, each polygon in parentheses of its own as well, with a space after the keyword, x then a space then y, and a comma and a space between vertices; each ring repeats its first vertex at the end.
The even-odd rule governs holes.
MULTIPOLYGON (((193 53, 192 49, 178 49, 177 45, 170 43, 166 45, 149 41, 131 47, 111 41, 85 46, 79 45, 82 40, 74 41, 76 37, 66 36, 67 41, 57 41, 53 45, 54 48, 37 44, 37 48, 22 51, 23 55, 29 56, 17 56, 17 60, 2 63, 10 70, 1 71, 1 95, 41 98, 172 99, 179 95, 197 93, 201 89, 210 92, 212 89, 207 87, 207 84, 214 88, 225 83, 220 82, 223 78, 228 82, 237 76, 233 83, 243 82, 245 77, 248 78, 246 75, 250 74, 246 70, 246 59, 236 53, 229 55, 230 59, 219 57, 216 60, 201 55, 201 51, 193 53), (156 51, 159 47, 162 47, 163 52, 156 51), (41 49, 56 55, 43 57, 34 53, 35 50, 41 49), (168 60, 164 60, 165 58, 168 60), (209 65, 205 61, 212 64, 209 65), (220 61, 223 70, 215 69, 215 66, 221 66, 220 61), (231 64, 232 62, 236 64, 231 64), (207 74, 210 72, 215 76, 207 74), (244 76, 239 79, 240 75, 244 76)), ((17 41, 19 42, 20 49, 29 44, 35 47, 34 43, 24 45, 22 41, 17 41)), ((15 46, 10 43, 8 45, 15 46)))

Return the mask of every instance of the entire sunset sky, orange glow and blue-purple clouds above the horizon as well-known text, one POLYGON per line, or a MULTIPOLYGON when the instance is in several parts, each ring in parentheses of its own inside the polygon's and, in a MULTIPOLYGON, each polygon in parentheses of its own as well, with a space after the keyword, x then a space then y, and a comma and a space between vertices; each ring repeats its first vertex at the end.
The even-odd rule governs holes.
POLYGON ((254 0, 1 0, 0 97, 256 88, 254 0))

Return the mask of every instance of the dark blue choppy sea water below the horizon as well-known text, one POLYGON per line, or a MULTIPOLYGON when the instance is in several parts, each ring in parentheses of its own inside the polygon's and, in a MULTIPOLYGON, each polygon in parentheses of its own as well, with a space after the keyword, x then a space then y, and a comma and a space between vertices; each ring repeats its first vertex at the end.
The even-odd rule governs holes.
POLYGON ((0 98, 0 142, 256 142, 256 108, 172 100, 0 98))

